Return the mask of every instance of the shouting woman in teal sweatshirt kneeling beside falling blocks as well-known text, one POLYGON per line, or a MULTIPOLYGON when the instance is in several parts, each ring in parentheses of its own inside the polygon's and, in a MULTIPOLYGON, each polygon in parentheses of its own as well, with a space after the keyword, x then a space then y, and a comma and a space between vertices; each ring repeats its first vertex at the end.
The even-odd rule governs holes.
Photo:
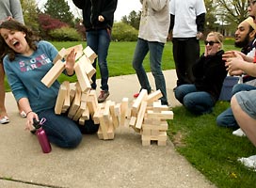
MULTIPOLYGON (((54 66, 56 48, 14 20, 1 24, 0 34, 0 51, 7 54, 3 62, 8 84, 26 113, 26 129, 32 130, 34 118, 46 118, 42 127, 49 141, 61 148, 75 148, 82 133, 96 133, 99 125, 94 125, 91 119, 81 126, 66 115, 55 114, 60 84, 55 81, 47 87, 40 80, 54 66)), ((75 53, 72 51, 66 58, 65 74, 73 75, 74 63, 75 53)))

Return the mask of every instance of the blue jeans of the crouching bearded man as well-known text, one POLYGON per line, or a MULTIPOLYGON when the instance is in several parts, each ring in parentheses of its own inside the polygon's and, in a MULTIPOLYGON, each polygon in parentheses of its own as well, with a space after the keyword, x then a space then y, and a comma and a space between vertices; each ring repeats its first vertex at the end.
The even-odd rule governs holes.
MULTIPOLYGON (((246 84, 237 84, 232 87, 232 96, 239 91, 249 91, 256 89, 255 86, 250 86, 246 84)), ((229 127, 233 129, 239 128, 235 118, 232 114, 232 108, 229 107, 227 110, 222 112, 216 118, 216 124, 221 127, 229 127)))

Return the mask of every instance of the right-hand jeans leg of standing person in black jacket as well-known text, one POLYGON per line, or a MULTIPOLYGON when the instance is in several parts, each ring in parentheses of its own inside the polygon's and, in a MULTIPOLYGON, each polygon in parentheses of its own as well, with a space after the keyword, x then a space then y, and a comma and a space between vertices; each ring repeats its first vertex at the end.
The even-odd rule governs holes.
POLYGON ((108 68, 107 68, 107 52, 110 44, 110 33, 106 29, 98 31, 98 64, 101 72, 101 88, 108 91, 108 68))

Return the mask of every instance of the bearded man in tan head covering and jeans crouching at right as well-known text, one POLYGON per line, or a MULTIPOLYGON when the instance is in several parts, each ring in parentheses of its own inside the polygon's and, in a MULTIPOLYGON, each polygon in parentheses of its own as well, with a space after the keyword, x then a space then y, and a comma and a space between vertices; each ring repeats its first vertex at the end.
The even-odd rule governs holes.
MULTIPOLYGON (((248 17, 245 21, 238 24, 237 29, 234 33, 235 47, 242 48, 240 55, 248 55, 250 56, 253 52, 253 55, 255 54, 255 34, 256 34, 256 24, 253 22, 253 19, 251 17, 248 17)), ((226 59, 229 56, 232 56, 234 51, 228 51, 223 55, 223 58, 226 59)), ((248 75, 244 76, 248 79, 248 75)), ((244 81, 245 82, 245 81, 244 81)), ((238 84, 233 86, 232 88, 232 95, 235 93, 241 91, 241 90, 252 90, 256 89, 255 86, 250 86, 248 84, 238 84)), ((237 125, 237 122, 232 114, 231 107, 222 112, 220 115, 216 118, 216 124, 221 127, 229 127, 232 129, 237 129, 239 126, 237 125)), ((233 132, 234 134, 239 133, 237 135, 240 135, 242 132, 236 131, 233 132)), ((243 135, 243 133, 241 134, 243 135)))

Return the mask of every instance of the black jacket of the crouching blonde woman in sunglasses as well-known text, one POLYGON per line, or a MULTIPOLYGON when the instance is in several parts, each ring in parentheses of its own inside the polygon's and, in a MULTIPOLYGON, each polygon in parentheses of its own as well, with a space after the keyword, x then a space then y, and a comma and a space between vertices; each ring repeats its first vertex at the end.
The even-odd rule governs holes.
POLYGON ((210 93, 217 101, 224 79, 227 76, 225 61, 222 60, 224 51, 221 50, 216 55, 201 55, 200 59, 193 67, 195 76, 195 86, 210 93))

